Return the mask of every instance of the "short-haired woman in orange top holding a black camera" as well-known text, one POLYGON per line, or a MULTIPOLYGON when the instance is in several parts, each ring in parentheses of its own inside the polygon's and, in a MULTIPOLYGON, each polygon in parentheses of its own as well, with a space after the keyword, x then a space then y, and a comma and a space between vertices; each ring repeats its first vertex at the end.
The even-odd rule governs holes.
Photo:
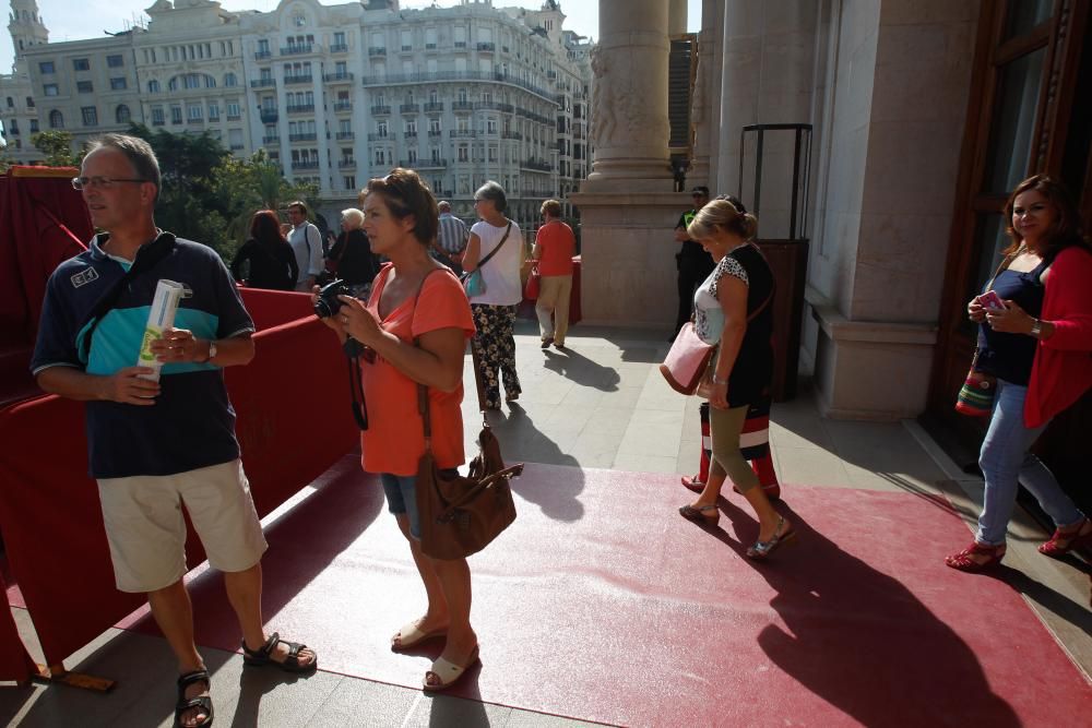
POLYGON ((323 319, 371 351, 364 357, 369 428, 360 434, 361 462, 378 473, 390 511, 410 541, 428 597, 428 609, 391 639, 407 649, 443 637, 443 653, 425 673, 425 690, 443 690, 477 660, 471 628, 471 572, 465 559, 431 559, 420 550, 415 482, 425 438, 417 411, 417 384, 428 386, 432 454, 439 468, 462 465, 463 354, 474 333, 463 287, 429 255, 439 225, 436 199, 416 172, 394 169, 372 179, 360 193, 364 231, 371 250, 390 263, 379 272, 368 302, 341 296, 344 303, 323 319), (414 345, 414 338, 419 346, 414 345), (373 353, 375 356, 371 356, 373 353))

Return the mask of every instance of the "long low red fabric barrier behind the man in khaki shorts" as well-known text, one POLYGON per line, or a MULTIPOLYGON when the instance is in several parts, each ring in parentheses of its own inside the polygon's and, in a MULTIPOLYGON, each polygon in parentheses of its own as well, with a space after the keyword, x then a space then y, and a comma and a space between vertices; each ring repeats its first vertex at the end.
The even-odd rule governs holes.
MULTIPOLYGON (((306 302, 278 296, 271 306, 306 302)), ((276 320, 265 296, 245 297, 257 319, 276 320)), ((265 515, 356 446, 358 432, 347 374, 339 375, 345 357, 319 320, 261 331, 254 342, 253 362, 226 375, 251 492, 265 515)), ((86 475, 83 405, 45 396, 4 409, 0 441, 0 528, 46 659, 59 663, 144 599, 114 588, 97 487, 86 475)), ((191 566, 204 558, 192 534, 187 556, 191 566)), ((2 636, 0 629, 0 661, 16 658, 2 636)))

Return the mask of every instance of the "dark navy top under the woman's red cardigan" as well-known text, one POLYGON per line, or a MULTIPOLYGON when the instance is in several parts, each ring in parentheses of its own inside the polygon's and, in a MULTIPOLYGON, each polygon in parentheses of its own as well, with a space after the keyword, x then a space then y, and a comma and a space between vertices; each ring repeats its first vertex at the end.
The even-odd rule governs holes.
MULTIPOLYGON (((1037 319, 1043 312, 1043 295, 1046 290, 1040 276, 1047 265, 1049 263, 1043 261, 1034 271, 1025 273, 1001 271, 994 279, 994 290, 1004 300, 1014 301, 1029 315, 1037 319)), ((1033 336, 994 331, 988 323, 983 322, 978 325, 978 361, 975 369, 1025 386, 1031 380, 1031 365, 1035 359, 1037 344, 1033 336)))

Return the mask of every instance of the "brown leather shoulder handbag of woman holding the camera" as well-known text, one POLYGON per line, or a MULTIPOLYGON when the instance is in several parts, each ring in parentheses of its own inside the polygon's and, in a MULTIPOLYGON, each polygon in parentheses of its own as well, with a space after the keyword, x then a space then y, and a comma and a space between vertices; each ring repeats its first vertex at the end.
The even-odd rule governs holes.
MULTIPOLYGON (((416 344, 417 342, 415 342, 416 344)), ((482 403, 482 375, 474 356, 474 379, 482 403)), ((523 463, 505 466, 500 442, 482 411, 478 454, 466 476, 446 475, 432 458, 432 425, 428 387, 417 385, 417 408, 425 429, 425 453, 417 464, 417 511, 420 550, 434 559, 465 559, 477 553, 515 521, 511 478, 523 473, 523 463)))

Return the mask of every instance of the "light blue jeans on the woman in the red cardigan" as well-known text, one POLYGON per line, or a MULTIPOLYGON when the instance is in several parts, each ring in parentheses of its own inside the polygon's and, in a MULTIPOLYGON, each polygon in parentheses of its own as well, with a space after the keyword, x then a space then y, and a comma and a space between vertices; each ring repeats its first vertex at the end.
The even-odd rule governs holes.
POLYGON ((1017 489, 1023 485, 1059 527, 1079 523, 1084 515, 1061 490, 1054 474, 1028 449, 1046 425, 1028 429, 1023 405, 1028 387, 997 380, 994 413, 982 443, 978 466, 986 479, 985 503, 978 516, 975 540, 986 546, 1005 542, 1005 532, 1017 502, 1017 489))

